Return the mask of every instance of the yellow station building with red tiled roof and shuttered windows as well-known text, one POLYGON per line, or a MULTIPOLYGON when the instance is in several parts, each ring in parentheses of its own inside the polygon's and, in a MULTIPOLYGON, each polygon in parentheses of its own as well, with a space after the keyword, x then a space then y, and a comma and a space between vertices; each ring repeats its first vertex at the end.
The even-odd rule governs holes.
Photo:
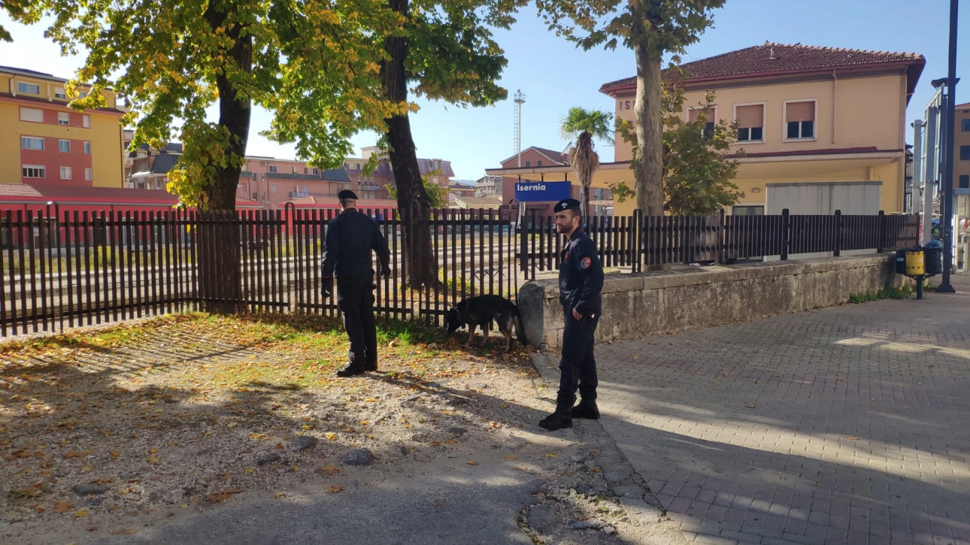
MULTIPOLYGON (((920 80, 920 54, 765 43, 686 63, 684 119, 695 119, 708 90, 708 118, 737 120, 744 149, 733 180, 744 197, 728 213, 901 212, 905 205, 906 107, 920 80)), ((635 78, 600 91, 633 119, 635 78)), ((617 135, 613 162, 593 185, 633 184, 630 144, 617 135)), ((605 159, 605 158, 602 158, 605 159)), ((574 180, 568 166, 501 168, 490 176, 574 180)), ((629 215, 633 200, 614 203, 629 215)))

